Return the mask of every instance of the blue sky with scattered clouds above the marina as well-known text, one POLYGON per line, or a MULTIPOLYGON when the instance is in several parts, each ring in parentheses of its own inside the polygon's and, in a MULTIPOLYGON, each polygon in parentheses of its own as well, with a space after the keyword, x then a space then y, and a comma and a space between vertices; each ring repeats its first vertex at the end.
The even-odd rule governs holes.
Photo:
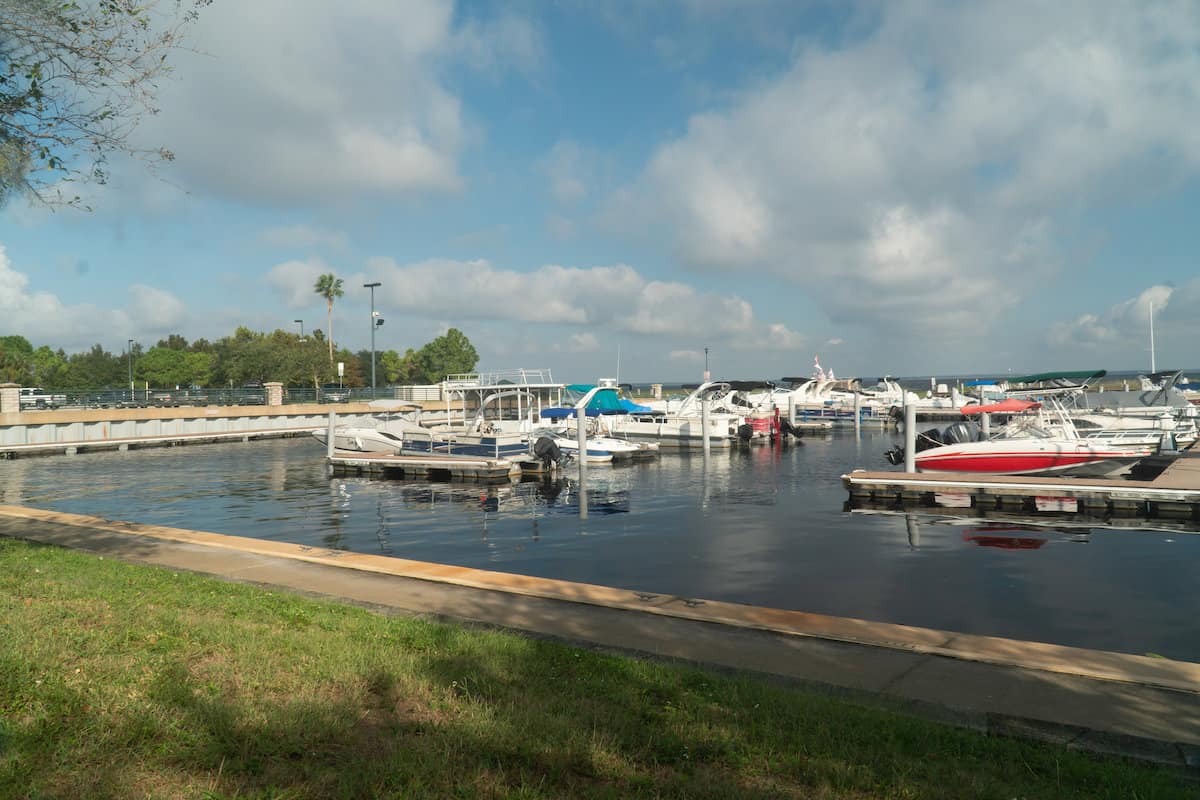
POLYGON ((0 210, 0 335, 307 332, 334 272, 338 345, 378 281, 377 349, 568 383, 1200 367, 1194 0, 216 0, 157 104, 174 162, 0 210))

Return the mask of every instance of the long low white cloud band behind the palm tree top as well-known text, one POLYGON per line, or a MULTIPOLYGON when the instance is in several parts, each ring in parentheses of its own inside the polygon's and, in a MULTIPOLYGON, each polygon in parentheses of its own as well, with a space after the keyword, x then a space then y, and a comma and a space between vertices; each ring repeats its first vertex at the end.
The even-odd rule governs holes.
MULTIPOLYGON (((295 261, 276 270, 288 276, 310 273, 295 261)), ((742 297, 652 281, 625 264, 588 269, 546 265, 516 272, 485 260, 438 259, 401 266, 390 258, 374 258, 362 275, 383 282, 376 293, 379 308, 406 314, 593 326, 608 333, 668 338, 703 333, 725 337, 730 347, 772 343, 786 348, 799 338, 784 325, 757 320, 742 297)), ((362 275, 348 279, 347 285, 361 283, 362 275)), ((292 279, 280 278, 283 284, 292 279)))

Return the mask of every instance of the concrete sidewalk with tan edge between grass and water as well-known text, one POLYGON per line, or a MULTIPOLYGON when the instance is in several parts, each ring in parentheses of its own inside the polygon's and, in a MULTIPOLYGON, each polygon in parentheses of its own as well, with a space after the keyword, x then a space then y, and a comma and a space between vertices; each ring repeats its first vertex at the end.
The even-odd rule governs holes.
POLYGON ((1200 664, 0 506, 0 535, 762 673, 989 733, 1200 770, 1200 664))

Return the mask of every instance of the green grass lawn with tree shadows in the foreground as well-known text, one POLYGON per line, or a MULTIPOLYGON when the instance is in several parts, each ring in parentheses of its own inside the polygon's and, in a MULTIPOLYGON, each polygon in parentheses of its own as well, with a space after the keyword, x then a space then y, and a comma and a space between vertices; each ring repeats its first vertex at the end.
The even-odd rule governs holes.
POLYGON ((0 798, 1194 798, 1170 770, 0 537, 0 798))

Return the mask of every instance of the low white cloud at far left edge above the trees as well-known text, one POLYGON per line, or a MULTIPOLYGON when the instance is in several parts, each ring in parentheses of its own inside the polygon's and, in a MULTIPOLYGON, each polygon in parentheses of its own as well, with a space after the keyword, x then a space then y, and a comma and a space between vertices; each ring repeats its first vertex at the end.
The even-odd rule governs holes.
POLYGON ((0 319, 35 344, 72 349, 101 338, 155 339, 187 325, 187 307, 170 291, 134 284, 128 294, 124 308, 67 306, 49 291, 31 290, 29 276, 17 271, 0 245, 0 319))

